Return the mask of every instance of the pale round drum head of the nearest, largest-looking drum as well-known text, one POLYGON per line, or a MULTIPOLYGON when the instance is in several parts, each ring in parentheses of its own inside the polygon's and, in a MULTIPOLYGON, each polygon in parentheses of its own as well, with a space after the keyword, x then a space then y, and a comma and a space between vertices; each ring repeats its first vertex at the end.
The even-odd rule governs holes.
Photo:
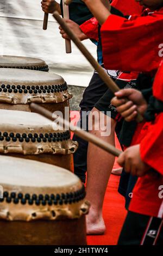
POLYGON ((76 175, 51 164, 2 155, 0 162, 3 187, 30 194, 71 192, 82 187, 76 175))

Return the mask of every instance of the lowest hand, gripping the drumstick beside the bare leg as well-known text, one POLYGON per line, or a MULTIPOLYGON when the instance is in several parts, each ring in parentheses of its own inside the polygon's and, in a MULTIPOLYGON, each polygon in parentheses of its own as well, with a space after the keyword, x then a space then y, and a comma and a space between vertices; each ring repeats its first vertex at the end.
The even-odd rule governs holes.
POLYGON ((126 149, 119 157, 117 162, 124 167, 127 173, 134 176, 145 175, 150 167, 141 160, 140 145, 135 145, 126 149))

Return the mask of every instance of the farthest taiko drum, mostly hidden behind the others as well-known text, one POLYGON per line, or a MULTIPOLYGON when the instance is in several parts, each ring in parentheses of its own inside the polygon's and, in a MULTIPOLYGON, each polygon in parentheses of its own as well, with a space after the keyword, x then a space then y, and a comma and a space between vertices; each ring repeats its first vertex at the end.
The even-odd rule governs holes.
POLYGON ((0 68, 49 71, 48 65, 42 59, 8 55, 0 56, 0 68))

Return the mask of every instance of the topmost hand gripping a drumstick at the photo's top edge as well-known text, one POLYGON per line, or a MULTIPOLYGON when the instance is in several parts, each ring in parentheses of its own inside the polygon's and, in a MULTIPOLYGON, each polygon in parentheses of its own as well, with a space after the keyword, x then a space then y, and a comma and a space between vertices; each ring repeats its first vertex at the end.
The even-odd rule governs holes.
POLYGON ((55 0, 42 0, 41 7, 45 13, 54 13, 54 11, 58 11, 59 14, 61 14, 60 4, 55 0))

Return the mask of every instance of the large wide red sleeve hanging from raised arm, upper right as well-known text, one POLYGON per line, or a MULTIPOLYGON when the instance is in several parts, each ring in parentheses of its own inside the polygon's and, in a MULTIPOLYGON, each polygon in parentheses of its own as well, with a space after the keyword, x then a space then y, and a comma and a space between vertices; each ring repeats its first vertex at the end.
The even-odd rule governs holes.
POLYGON ((163 8, 151 16, 134 20, 110 15, 101 28, 106 69, 150 72, 158 69, 161 57, 163 8))

